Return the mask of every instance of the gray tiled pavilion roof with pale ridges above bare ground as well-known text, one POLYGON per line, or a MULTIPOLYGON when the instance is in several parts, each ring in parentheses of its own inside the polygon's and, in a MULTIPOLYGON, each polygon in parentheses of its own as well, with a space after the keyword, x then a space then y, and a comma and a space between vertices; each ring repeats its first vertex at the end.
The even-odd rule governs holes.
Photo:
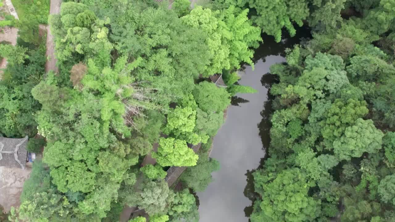
POLYGON ((0 137, 0 166, 24 169, 27 142, 28 136, 20 139, 0 137))

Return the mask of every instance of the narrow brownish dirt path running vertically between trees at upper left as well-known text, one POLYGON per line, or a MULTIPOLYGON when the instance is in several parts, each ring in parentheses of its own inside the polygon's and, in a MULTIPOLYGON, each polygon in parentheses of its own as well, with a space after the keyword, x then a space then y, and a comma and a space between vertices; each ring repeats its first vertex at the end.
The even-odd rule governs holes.
MULTIPOLYGON (((51 0, 51 8, 49 9, 50 15, 56 15, 60 13, 60 4, 62 0, 51 0)), ((56 57, 55 57, 55 42, 51 34, 51 28, 47 26, 47 52, 45 53, 48 60, 45 64, 45 71, 53 70, 56 73, 59 71, 56 67, 56 57)))

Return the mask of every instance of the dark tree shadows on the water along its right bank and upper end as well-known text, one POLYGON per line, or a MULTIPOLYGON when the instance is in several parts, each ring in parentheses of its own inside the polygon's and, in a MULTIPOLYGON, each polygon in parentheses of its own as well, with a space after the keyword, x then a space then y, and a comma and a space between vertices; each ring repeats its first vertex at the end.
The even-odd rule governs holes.
MULTIPOLYGON (((265 58, 270 55, 279 55, 285 57, 285 49, 292 48, 295 44, 299 44, 301 40, 311 38, 310 29, 307 26, 303 26, 297 29, 297 34, 294 37, 290 37, 288 32, 283 31, 284 38, 279 43, 276 43, 273 36, 262 35, 263 44, 260 45, 258 49, 256 49, 254 54, 254 63, 262 60, 265 62, 265 58)), ((270 89, 274 83, 278 83, 278 77, 276 75, 272 75, 271 73, 266 73, 262 75, 261 84, 267 89, 270 89)), ((263 103, 263 110, 261 111, 262 120, 258 124, 259 135, 262 141, 262 149, 267 153, 270 144, 270 128, 272 126, 270 122, 270 117, 273 113, 273 100, 274 96, 267 92, 267 101, 263 103)), ((242 98, 237 98, 237 100, 242 101, 242 98)), ((233 104, 232 104, 233 105, 233 104)), ((266 160, 267 155, 261 158, 260 164, 256 169, 260 169, 264 161, 266 160)), ((254 176, 253 173, 256 169, 247 170, 245 176, 247 185, 244 189, 244 196, 252 201, 252 205, 245 207, 244 213, 246 217, 250 217, 253 211, 254 201, 259 198, 259 194, 257 194, 254 190, 254 176)), ((249 220, 250 221, 250 220, 249 220)))

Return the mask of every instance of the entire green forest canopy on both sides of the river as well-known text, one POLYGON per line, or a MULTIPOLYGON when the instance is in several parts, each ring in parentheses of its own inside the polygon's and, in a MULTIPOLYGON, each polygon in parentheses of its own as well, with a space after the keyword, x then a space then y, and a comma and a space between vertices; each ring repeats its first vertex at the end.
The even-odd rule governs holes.
POLYGON ((44 2, 15 22, 16 46, 0 45, 0 134, 43 147, 10 221, 118 221, 125 206, 146 213, 132 222, 198 221, 192 192, 219 168, 211 138, 230 97, 254 92, 235 71, 253 66, 261 33, 302 25, 312 38, 271 67, 250 220, 395 221, 395 0, 65 1, 48 19, 58 73, 32 31, 44 2), (209 79, 221 74, 226 88, 209 79), (173 166, 187 167, 181 188, 165 181, 173 166))

